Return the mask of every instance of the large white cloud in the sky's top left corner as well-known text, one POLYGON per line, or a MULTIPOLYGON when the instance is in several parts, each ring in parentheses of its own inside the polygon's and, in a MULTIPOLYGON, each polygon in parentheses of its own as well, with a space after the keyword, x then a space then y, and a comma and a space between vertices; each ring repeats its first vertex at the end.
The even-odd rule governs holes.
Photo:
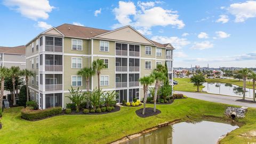
POLYGON ((10 7, 11 10, 15 10, 32 20, 48 19, 48 13, 54 9, 54 6, 51 6, 47 0, 4 0, 3 3, 5 6, 10 7))

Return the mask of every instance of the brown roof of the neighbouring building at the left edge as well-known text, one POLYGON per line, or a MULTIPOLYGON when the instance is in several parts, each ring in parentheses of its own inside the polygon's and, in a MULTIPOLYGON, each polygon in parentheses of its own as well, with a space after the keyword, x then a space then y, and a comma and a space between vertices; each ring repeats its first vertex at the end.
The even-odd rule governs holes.
POLYGON ((26 48, 24 45, 14 46, 14 47, 4 47, 0 46, 0 53, 9 53, 9 54, 26 54, 26 48))

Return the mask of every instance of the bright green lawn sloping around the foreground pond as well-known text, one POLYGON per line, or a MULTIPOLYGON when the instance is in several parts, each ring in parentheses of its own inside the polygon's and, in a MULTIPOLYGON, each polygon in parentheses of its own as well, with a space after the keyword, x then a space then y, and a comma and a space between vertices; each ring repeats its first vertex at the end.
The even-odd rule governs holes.
MULTIPOLYGON (((153 105, 147 105, 153 107, 153 105)), ((21 107, 5 109, 0 130, 0 143, 108 143, 128 134, 140 132, 158 123, 202 116, 225 117, 228 105, 192 98, 175 100, 172 105, 158 105, 161 114, 140 118, 135 110, 140 107, 122 107, 105 115, 62 115, 29 122, 20 118, 21 107)), ((256 129, 256 109, 249 109, 242 119, 245 125, 231 132, 223 143, 255 142, 256 138, 240 136, 256 129)), ((186 137, 186 135, 184 135, 186 137)))

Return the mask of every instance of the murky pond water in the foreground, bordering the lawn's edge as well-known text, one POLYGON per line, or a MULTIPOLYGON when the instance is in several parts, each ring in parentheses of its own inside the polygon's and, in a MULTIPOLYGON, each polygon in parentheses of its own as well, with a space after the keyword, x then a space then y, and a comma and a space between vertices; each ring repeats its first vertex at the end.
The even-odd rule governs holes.
POLYGON ((131 139, 124 143, 127 144, 157 144, 157 143, 217 143, 221 135, 235 130, 238 126, 225 123, 202 121, 199 123, 178 123, 161 127, 131 139))

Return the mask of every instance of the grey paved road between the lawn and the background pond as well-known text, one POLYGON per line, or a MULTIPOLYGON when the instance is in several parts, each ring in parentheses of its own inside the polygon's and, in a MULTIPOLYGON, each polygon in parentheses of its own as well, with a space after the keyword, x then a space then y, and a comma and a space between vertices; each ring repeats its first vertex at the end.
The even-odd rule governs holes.
POLYGON ((205 101, 212 101, 212 102, 226 103, 229 105, 256 108, 256 103, 236 101, 237 99, 240 99, 238 97, 231 97, 231 96, 218 95, 218 94, 208 94, 208 93, 181 92, 181 91, 175 91, 175 93, 182 93, 187 95, 187 97, 205 100, 205 101))

